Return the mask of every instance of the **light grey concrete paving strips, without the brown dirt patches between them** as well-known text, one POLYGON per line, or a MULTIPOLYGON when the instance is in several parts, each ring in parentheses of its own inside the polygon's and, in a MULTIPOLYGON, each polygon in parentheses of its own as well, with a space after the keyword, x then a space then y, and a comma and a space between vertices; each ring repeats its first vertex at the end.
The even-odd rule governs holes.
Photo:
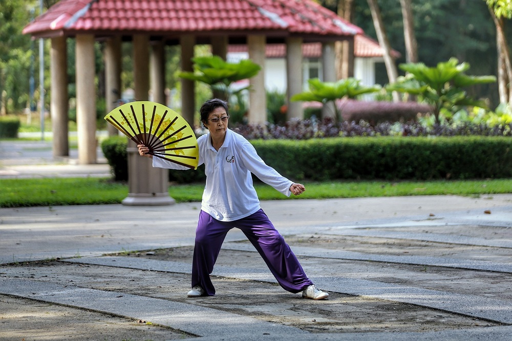
MULTIPOLYGON (((106 164, 79 166, 62 160, 48 161, 48 143, 0 143, 0 178, 42 176, 107 176, 106 164), (17 148, 17 149, 16 149, 17 148), (42 157, 40 157, 43 155, 42 157), (41 160, 47 164, 40 165, 41 160)), ((102 156, 102 155, 100 155, 102 156)), ((512 238, 475 237, 464 234, 421 234, 421 226, 512 226, 512 194, 480 198, 414 196, 328 200, 277 200, 262 208, 283 235, 357 236, 429 241, 512 249, 512 238), (491 212, 490 214, 485 212, 491 212)), ((319 276, 317 284, 331 292, 376 300, 408 303, 438 309, 502 326, 425 333, 308 333, 298 328, 252 319, 241 314, 140 295, 11 278, 9 264, 60 258, 66 262, 189 274, 190 264, 103 254, 194 244, 200 203, 164 207, 118 205, 0 209, 0 294, 153 321, 201 336, 201 340, 512 340, 512 302, 485 297, 478 292, 433 290, 389 284, 357 277, 319 276), (76 257, 80 258, 76 258, 76 257), (194 317, 194 318, 193 318, 194 317), (190 323, 191 320, 199 321, 190 323)), ((238 231, 228 233, 225 249, 254 252, 234 241, 245 240, 238 231)), ((294 247, 299 256, 416 264, 512 274, 510 257, 485 261, 429 256, 393 256, 340 249, 294 247)), ((512 252, 510 253, 512 255, 512 252)), ((267 269, 222 266, 214 275, 233 279, 275 282, 267 269)), ((491 284, 489 284, 491 285, 491 284)), ((0 333, 1 334, 1 333, 0 333)), ((1 336, 0 336, 1 339, 1 336)))

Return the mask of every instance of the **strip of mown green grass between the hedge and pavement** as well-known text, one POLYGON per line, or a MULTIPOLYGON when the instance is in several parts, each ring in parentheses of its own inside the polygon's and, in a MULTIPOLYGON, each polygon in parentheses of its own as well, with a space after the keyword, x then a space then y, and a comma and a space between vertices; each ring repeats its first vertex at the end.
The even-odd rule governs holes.
MULTIPOLYGON (((407 195, 463 195, 512 193, 512 179, 439 181, 327 181, 303 183, 306 192, 292 199, 355 198, 407 195)), ((288 199, 268 185, 255 183, 261 200, 288 199)), ((126 184, 107 178, 0 179, 0 207, 120 203, 126 184)), ((177 202, 201 201, 204 184, 172 185, 177 202)))

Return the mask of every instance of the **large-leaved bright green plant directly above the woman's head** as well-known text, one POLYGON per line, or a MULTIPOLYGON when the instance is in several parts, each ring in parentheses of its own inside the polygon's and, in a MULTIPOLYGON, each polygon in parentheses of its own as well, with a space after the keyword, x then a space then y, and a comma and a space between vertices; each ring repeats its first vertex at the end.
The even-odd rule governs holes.
POLYGON ((224 61, 219 56, 195 57, 194 72, 180 72, 179 77, 200 81, 211 86, 213 91, 220 92, 223 99, 228 100, 231 95, 248 89, 249 86, 233 90, 230 85, 233 82, 254 77, 261 70, 261 66, 249 59, 243 59, 238 63, 224 61))

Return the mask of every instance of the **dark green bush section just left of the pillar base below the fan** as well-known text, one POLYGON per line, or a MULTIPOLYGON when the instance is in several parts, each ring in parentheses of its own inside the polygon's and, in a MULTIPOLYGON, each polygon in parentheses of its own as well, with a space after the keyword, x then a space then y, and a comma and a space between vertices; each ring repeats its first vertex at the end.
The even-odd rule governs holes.
POLYGON ((127 142, 128 140, 124 136, 112 136, 101 143, 101 150, 116 181, 128 180, 127 142))

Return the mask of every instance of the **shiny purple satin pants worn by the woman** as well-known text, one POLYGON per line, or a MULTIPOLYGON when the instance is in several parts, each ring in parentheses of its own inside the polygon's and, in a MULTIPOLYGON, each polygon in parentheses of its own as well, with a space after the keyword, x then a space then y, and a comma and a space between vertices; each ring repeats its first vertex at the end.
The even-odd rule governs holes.
POLYGON ((210 274, 214 269, 222 242, 232 228, 242 230, 258 250, 283 289, 296 293, 313 284, 283 236, 274 228, 263 210, 235 221, 219 221, 201 211, 196 230, 192 263, 192 286, 200 285, 206 294, 215 294, 210 274))

